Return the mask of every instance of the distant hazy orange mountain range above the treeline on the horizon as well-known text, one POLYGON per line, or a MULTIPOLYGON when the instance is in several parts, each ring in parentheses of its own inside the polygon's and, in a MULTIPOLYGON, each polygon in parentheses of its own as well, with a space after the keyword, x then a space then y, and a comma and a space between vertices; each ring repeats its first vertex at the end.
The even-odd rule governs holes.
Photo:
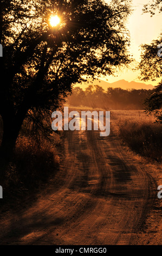
POLYGON ((114 83, 108 83, 100 79, 95 81, 89 81, 89 83, 86 82, 86 83, 76 84, 75 87, 79 86, 84 90, 86 87, 89 86, 89 84, 93 84, 94 86, 95 85, 101 86, 104 90, 107 90, 108 87, 112 87, 112 88, 120 87, 121 89, 137 89, 137 90, 139 89, 152 90, 154 88, 152 84, 138 83, 134 81, 128 82, 126 80, 119 80, 114 83))

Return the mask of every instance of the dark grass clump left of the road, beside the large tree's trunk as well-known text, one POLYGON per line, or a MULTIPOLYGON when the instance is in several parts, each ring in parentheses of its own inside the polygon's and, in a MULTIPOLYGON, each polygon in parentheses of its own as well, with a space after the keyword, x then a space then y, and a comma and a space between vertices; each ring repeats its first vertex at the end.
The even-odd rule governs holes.
POLYGON ((22 195, 36 191, 58 168, 56 149, 49 142, 38 145, 31 138, 19 137, 5 177, 5 189, 22 195))

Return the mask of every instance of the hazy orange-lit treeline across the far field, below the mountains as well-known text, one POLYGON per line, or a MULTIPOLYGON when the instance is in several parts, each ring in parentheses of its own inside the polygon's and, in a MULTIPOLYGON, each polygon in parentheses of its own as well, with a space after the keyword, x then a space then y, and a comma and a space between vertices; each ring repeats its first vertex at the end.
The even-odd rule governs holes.
POLYGON ((152 90, 128 89, 109 87, 105 91, 100 86, 89 85, 85 90, 80 87, 73 88, 68 96, 71 106, 87 106, 105 109, 144 109, 144 100, 152 90))

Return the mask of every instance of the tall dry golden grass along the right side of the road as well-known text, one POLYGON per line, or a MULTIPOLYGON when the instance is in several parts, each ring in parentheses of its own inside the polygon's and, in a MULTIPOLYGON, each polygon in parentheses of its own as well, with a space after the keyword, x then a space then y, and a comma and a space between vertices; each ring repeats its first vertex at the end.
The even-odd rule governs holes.
POLYGON ((143 111, 113 111, 117 132, 126 144, 141 156, 161 161, 162 126, 143 111))

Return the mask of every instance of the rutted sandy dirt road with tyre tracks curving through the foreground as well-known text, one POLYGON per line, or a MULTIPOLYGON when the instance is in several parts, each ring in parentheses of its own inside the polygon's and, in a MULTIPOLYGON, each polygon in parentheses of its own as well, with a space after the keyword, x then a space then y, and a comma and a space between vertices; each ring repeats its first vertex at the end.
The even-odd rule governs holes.
POLYGON ((112 131, 108 137, 66 131, 55 179, 36 200, 1 213, 1 244, 133 244, 156 190, 153 178, 129 159, 112 131))

